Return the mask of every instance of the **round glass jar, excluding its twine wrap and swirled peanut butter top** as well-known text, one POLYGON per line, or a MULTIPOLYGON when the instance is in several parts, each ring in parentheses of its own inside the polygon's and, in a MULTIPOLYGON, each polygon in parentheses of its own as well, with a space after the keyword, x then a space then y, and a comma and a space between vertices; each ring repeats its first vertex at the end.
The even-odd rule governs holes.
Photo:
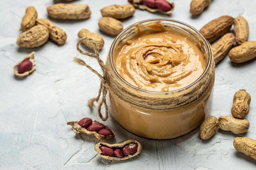
MULTIPOLYGON (((149 33, 150 31, 153 30, 145 31, 145 33, 149 33)), ((206 74, 209 74, 210 67, 214 69, 211 48, 203 35, 188 24, 164 18, 144 20, 124 29, 112 43, 108 53, 108 60, 110 60, 110 71, 113 72, 114 78, 118 79, 119 84, 128 88, 132 93, 150 97, 168 98, 188 93, 193 87, 198 85, 198 82, 203 79, 206 74), (168 92, 145 91, 129 84, 117 73, 114 63, 116 54, 120 51, 120 46, 122 46, 121 44, 137 36, 135 30, 138 26, 142 25, 143 27, 143 25, 146 26, 154 22, 162 22, 162 24, 172 32, 189 37, 200 47, 204 54, 207 67, 202 75, 189 86, 168 92)), ((184 135, 198 127, 210 113, 213 84, 214 76, 211 77, 210 84, 203 85, 209 86, 204 95, 191 103, 171 110, 148 110, 137 107, 124 101, 115 95, 115 93, 112 93, 112 91, 109 91, 108 110, 112 117, 114 117, 123 128, 135 135, 150 139, 172 139, 184 135)))

